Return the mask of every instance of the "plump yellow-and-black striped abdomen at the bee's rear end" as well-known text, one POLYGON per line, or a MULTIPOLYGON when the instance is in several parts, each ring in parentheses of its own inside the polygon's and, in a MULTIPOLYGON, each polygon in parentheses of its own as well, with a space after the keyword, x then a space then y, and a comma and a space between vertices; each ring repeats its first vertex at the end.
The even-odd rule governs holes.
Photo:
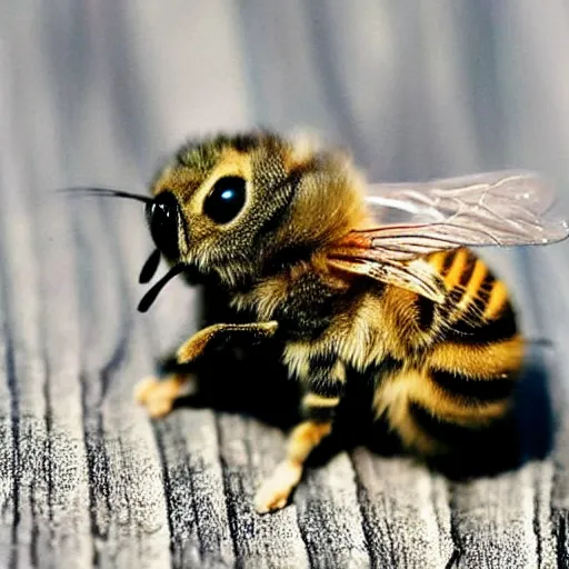
POLYGON ((506 415, 523 350, 507 289, 482 260, 458 249, 428 261, 445 279, 446 302, 413 298, 406 312, 413 321, 403 328, 417 335, 405 341, 419 356, 381 380, 375 398, 403 442, 423 452, 441 448, 457 427, 506 415))

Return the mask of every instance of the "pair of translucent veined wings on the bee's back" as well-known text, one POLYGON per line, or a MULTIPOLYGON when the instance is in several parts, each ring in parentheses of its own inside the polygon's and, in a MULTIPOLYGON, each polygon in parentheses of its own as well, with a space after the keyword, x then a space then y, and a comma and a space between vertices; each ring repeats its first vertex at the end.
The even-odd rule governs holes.
POLYGON ((567 219, 553 211, 551 188, 526 171, 377 184, 367 202, 371 229, 341 239, 329 251, 331 267, 436 302, 445 300, 445 283, 421 256, 458 247, 547 244, 569 236, 567 219))

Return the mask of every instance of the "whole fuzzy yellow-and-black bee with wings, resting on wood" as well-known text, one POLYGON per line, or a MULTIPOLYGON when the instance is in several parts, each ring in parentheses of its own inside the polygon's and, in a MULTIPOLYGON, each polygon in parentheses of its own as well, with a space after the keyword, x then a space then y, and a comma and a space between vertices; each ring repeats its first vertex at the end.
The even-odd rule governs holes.
MULTIPOLYGON (((370 408, 419 456, 445 452, 441 427, 483 429, 508 412, 525 341, 506 284, 469 248, 546 244, 569 234, 531 172, 417 184, 366 184, 343 152, 269 132, 182 146, 146 201, 173 276, 214 279, 250 322, 219 322, 177 352, 242 336, 279 338, 302 388, 302 421, 259 488, 259 512, 286 506, 312 450, 330 435, 350 370, 373 377, 370 408), (402 220, 388 222, 388 213, 402 220), (433 429, 433 427, 437 427, 433 429)), ((114 192, 120 193, 120 192, 114 192)), ((167 415, 190 379, 148 379, 136 398, 167 415)))

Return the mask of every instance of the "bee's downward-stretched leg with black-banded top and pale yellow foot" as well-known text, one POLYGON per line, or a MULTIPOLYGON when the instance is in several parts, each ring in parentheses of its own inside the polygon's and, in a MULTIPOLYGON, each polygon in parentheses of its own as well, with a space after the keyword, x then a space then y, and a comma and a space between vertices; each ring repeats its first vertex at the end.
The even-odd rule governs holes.
POLYGON ((302 477, 305 462, 312 450, 332 430, 333 417, 346 381, 345 367, 339 360, 310 363, 308 390, 302 398, 306 419, 289 436, 287 457, 261 485, 254 498, 259 513, 283 508, 302 477))

